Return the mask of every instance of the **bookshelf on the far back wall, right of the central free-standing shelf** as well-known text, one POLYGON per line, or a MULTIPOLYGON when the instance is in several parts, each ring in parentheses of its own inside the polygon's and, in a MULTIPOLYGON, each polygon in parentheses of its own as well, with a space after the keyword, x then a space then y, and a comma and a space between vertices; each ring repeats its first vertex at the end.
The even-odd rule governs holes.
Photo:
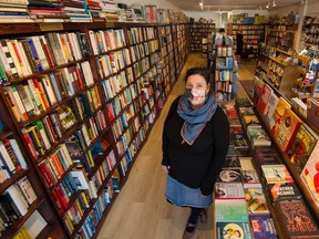
POLYGON ((247 50, 247 46, 253 46, 255 55, 258 55, 258 40, 260 35, 265 34, 265 24, 248 24, 248 23, 229 23, 228 34, 233 35, 234 39, 234 50, 237 48, 237 32, 241 31, 244 37, 243 51, 247 50))

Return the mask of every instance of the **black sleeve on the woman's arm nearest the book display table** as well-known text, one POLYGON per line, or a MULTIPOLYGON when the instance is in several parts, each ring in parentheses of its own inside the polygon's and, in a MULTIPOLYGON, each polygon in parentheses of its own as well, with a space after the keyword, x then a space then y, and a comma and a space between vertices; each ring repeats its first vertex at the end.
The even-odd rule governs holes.
POLYGON ((229 147, 229 122, 224 111, 218 106, 216 117, 212 123, 213 127, 213 157, 204 180, 200 185, 202 194, 208 196, 213 193, 214 185, 224 165, 229 147))

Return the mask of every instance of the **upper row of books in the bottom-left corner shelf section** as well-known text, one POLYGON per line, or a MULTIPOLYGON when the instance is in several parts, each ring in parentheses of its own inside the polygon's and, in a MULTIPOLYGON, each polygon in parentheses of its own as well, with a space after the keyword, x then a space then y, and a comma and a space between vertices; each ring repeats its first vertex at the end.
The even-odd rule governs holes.
POLYGON ((0 184, 28 169, 24 156, 14 138, 0 141, 0 184))

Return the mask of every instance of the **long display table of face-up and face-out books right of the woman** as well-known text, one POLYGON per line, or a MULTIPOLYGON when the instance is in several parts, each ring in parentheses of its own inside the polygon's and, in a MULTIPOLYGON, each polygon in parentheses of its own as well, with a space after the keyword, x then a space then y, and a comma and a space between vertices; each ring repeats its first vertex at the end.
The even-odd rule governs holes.
MULTIPOLYGON (((266 87, 265 84, 261 85, 266 87)), ((270 128, 269 122, 265 122, 268 107, 266 106, 266 114, 263 114, 264 107, 256 106, 258 100, 265 97, 263 94, 268 93, 258 87, 260 84, 255 84, 255 106, 248 98, 247 101, 235 100, 237 116, 233 112, 234 108, 229 106, 231 103, 224 106, 229 119, 239 117, 241 132, 246 132, 249 142, 245 150, 250 150, 251 156, 249 157, 249 154, 243 156, 243 148, 230 142, 226 162, 214 190, 216 237, 224 238, 223 235, 227 235, 222 228, 223 222, 249 224, 250 233, 254 235, 250 236, 251 238, 301 238, 301 236, 317 238, 319 237, 318 193, 315 188, 318 179, 316 176, 318 174, 318 131, 301 122, 299 115, 294 113, 294 107, 281 96, 272 116, 268 115, 270 118, 276 117, 275 125, 270 128), (256 91, 259 93, 257 94, 256 91), (249 110, 251 106, 254 110, 249 110), (247 124, 247 119, 245 121, 247 116, 255 117, 251 119, 255 125, 247 124), (251 129, 263 129, 268 136, 269 145, 254 146, 254 138, 249 137, 251 129), (271 133, 271 129, 280 132, 281 135, 276 136, 278 133, 271 133), (239 206, 243 204, 241 189, 245 193, 246 209, 244 205, 243 208, 239 206), (239 218, 236 215, 239 212, 243 217, 248 215, 248 220, 239 218)), ((271 94, 275 92, 274 90, 271 94)), ((231 133, 238 134, 240 132, 238 127, 240 128, 230 125, 231 133)), ((241 231, 244 231, 243 227, 244 225, 240 227, 241 231)), ((245 230, 247 231, 247 228, 245 230)))

